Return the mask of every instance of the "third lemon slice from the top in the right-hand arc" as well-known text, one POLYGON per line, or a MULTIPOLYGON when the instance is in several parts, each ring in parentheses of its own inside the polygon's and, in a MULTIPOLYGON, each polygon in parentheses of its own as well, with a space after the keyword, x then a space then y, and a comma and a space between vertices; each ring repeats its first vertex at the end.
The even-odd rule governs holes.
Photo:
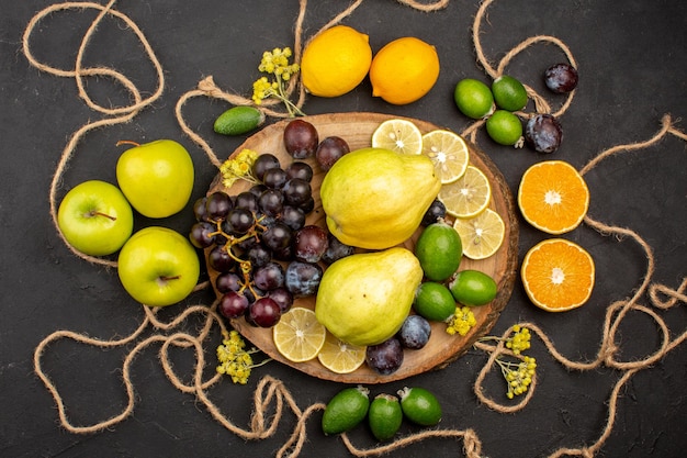
POLYGON ((474 166, 452 183, 442 185, 437 198, 446 211, 455 217, 473 217, 486 209, 492 199, 492 187, 486 176, 474 166))

